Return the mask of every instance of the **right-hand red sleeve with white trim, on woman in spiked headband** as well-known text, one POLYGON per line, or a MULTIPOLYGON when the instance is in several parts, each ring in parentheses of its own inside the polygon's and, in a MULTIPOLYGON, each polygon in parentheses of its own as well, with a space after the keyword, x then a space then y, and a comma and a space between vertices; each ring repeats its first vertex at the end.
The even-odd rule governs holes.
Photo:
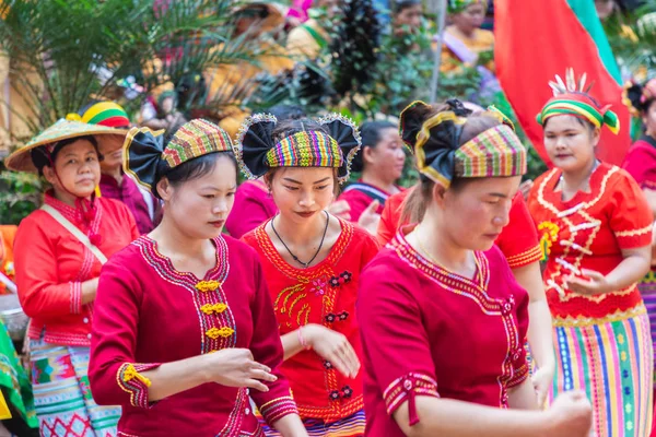
POLYGON ((610 228, 620 249, 635 249, 652 245, 654 214, 639 185, 625 172, 612 189, 610 228))

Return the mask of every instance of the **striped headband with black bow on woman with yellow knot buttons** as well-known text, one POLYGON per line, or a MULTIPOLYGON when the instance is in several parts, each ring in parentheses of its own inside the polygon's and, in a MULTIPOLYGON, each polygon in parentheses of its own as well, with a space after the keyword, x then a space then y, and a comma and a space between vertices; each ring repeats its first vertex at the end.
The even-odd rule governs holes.
POLYGON ((157 198, 157 181, 173 168, 209 153, 233 151, 227 132, 207 120, 186 122, 166 146, 163 133, 163 130, 132 128, 124 145, 124 170, 157 198))

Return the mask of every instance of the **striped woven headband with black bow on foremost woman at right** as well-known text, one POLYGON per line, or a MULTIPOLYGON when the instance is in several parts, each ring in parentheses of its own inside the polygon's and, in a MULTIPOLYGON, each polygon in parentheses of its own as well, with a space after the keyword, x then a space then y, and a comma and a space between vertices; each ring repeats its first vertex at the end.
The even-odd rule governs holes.
POLYGON ((526 149, 507 117, 502 117, 496 109, 488 109, 484 115, 497 118, 502 125, 459 146, 468 114, 462 113, 460 102, 448 104, 456 110, 429 116, 431 106, 415 102, 401 114, 401 138, 414 146, 417 167, 423 177, 448 188, 454 177, 506 177, 526 173, 526 149))

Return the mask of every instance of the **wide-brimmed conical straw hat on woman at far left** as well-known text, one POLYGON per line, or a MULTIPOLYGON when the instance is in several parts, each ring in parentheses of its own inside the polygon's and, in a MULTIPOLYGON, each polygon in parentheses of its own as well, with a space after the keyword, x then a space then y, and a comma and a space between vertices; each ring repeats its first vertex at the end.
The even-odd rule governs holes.
POLYGON ((125 138, 127 131, 124 129, 107 128, 98 125, 87 125, 81 121, 59 120, 38 135, 30 140, 24 146, 16 150, 4 160, 7 168, 14 172, 37 173, 38 169, 32 161, 31 151, 48 144, 56 144, 59 141, 71 138, 93 135, 98 142, 98 147, 109 135, 120 135, 125 138))

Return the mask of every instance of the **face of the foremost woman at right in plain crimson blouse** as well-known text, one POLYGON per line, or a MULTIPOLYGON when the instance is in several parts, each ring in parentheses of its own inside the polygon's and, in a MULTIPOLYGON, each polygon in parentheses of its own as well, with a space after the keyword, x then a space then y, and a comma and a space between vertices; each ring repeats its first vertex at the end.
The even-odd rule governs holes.
MULTIPOLYGON (((508 224, 520 181, 520 176, 477 178, 446 190, 437 201, 446 234, 464 249, 489 250, 508 224)), ((436 187, 434 193, 440 190, 436 187)))

